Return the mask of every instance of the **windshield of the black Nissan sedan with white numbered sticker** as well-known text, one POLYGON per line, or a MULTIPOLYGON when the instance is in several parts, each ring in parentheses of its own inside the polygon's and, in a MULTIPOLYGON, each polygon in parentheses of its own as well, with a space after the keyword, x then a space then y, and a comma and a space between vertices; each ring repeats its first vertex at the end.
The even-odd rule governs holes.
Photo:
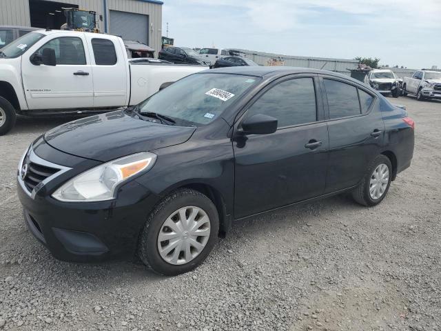
POLYGON ((192 74, 139 104, 141 114, 154 112, 181 126, 214 121, 260 79, 240 74, 192 74))

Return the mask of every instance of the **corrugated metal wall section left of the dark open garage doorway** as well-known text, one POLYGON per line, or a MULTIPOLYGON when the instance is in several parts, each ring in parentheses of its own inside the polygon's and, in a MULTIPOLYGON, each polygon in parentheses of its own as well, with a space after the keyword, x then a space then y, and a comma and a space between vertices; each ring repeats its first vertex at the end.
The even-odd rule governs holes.
POLYGON ((0 26, 30 26, 29 0, 0 0, 0 26))

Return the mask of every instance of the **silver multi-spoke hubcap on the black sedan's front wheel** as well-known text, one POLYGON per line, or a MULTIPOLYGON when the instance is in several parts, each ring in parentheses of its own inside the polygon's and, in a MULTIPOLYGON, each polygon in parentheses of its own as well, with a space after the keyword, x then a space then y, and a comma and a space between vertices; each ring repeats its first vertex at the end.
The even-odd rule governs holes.
POLYGON ((180 265, 192 261, 207 245, 210 222, 207 213, 187 206, 173 212, 158 234, 158 251, 164 261, 180 265))

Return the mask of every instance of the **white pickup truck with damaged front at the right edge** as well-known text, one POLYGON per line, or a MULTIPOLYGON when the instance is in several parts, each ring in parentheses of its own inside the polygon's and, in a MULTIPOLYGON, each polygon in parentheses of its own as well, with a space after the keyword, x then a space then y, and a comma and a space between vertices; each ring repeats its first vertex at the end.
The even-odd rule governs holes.
POLYGON ((404 77, 402 94, 415 94, 416 99, 441 99, 441 72, 418 70, 412 77, 404 77))

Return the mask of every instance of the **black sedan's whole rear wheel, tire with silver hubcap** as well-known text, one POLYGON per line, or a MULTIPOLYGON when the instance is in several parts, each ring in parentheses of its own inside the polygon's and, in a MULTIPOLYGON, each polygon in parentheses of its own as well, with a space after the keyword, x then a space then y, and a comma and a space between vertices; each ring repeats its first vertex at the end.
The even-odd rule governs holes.
MULTIPOLYGON (((380 172, 381 174, 381 172, 380 172)), ((386 197, 387 192, 389 192, 389 186, 391 185, 391 177, 392 177, 392 164, 388 157, 384 155, 378 155, 375 160, 369 165, 367 168, 365 176, 363 177, 361 183, 355 188, 352 192, 353 199, 360 203, 360 205, 373 206, 378 205, 384 197, 386 197), (387 166, 387 185, 384 186, 385 183, 382 183, 382 189, 376 191, 374 190, 373 194, 371 194, 371 188, 374 185, 371 184, 371 180, 375 181, 375 173, 378 169, 384 169, 384 167, 380 168, 381 165, 387 166), (382 192, 379 197, 375 197, 376 193, 382 192)), ((381 178, 381 177, 380 177, 381 178)), ((385 179, 385 178, 384 178, 385 179)))

